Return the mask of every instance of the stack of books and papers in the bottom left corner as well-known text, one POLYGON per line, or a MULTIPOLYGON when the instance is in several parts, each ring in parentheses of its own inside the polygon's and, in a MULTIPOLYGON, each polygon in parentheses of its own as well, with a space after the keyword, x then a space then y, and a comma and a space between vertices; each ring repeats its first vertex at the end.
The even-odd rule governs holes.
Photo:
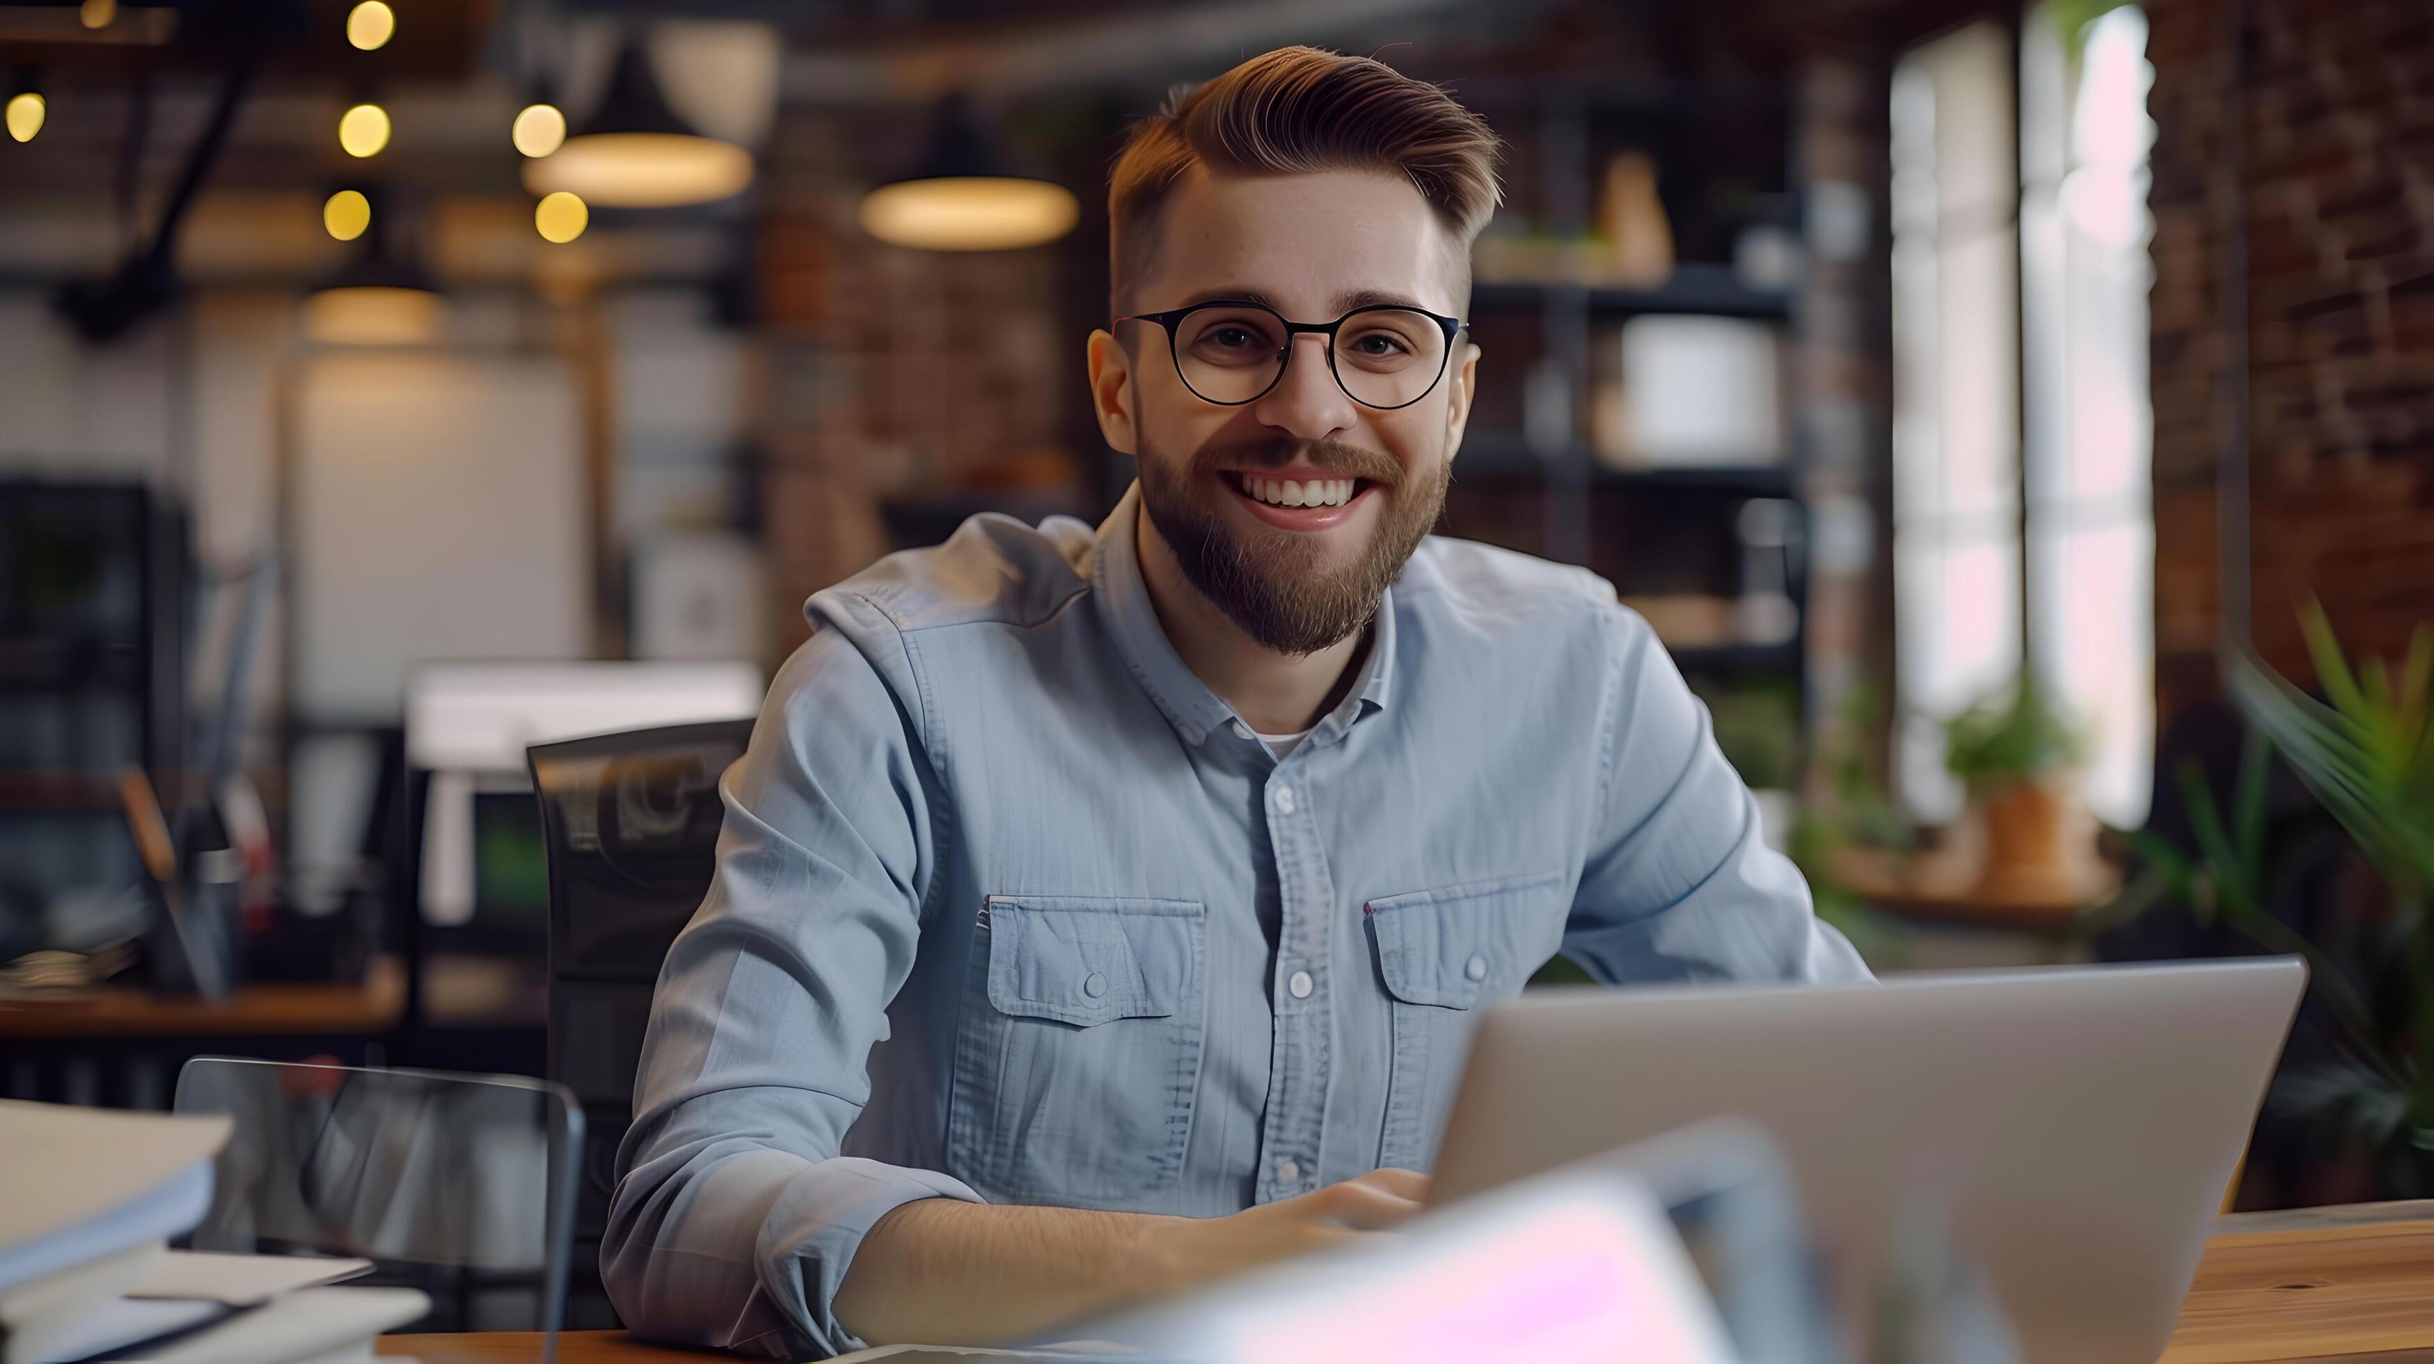
POLYGON ((173 1252, 212 1206, 229 1118, 0 1101, 0 1364, 336 1364, 421 1318, 414 1288, 329 1288, 368 1259, 173 1252))

